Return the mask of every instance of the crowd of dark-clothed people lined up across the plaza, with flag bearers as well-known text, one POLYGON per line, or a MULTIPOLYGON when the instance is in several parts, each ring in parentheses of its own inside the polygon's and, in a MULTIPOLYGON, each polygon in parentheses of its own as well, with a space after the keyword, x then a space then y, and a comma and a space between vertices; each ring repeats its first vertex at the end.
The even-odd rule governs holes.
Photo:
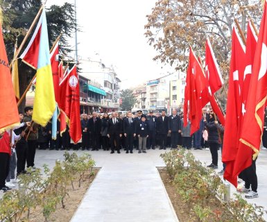
MULTIPOLYGON (((141 110, 136 114, 128 111, 126 116, 119 115, 117 112, 81 114, 82 139, 77 144, 72 142, 68 126, 61 134, 58 121, 57 136, 53 140, 51 123, 48 123, 46 127, 32 123, 32 114, 33 108, 26 107, 24 114, 19 114, 21 124, 0 135, 1 191, 15 187, 17 176, 27 173, 26 170, 29 167, 35 169, 37 148, 40 150, 81 149, 83 151, 103 149, 103 151, 111 151, 111 154, 115 151, 133 153, 134 149, 137 149, 138 153, 146 153, 149 149, 166 150, 166 148, 175 149, 179 146, 187 149, 193 147, 195 150, 206 148, 212 155, 212 163, 207 167, 218 169, 218 150, 223 147, 224 128, 212 110, 203 109, 200 128, 193 135, 190 135, 189 119, 187 118, 188 124, 184 127, 184 115, 182 112, 178 113, 177 110, 173 110, 169 116, 165 111, 161 113, 150 111, 145 115, 141 110), (15 173, 16 168, 17 173, 15 173)), ((219 173, 223 175, 224 171, 225 164, 219 173)), ((251 183, 252 187, 257 187, 255 182, 247 182, 247 188, 241 191, 250 191, 248 186, 251 183)), ((255 189, 257 192, 257 188, 255 189)))

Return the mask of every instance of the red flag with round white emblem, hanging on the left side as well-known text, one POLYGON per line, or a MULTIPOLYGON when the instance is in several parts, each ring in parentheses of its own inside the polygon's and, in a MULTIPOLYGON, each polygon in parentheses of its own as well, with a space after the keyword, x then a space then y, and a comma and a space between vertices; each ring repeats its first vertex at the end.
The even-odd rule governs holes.
POLYGON ((69 118, 69 135, 74 143, 82 137, 80 126, 80 87, 76 65, 60 83, 60 109, 69 118))

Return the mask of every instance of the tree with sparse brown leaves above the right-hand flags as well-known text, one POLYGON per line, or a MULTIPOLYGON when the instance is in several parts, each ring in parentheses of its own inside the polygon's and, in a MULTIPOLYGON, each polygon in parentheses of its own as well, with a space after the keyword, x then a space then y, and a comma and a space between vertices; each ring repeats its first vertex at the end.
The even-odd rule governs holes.
POLYGON ((157 51, 154 60, 183 71, 189 45, 204 57, 205 39, 209 37, 223 78, 227 79, 234 19, 245 31, 248 16, 259 25, 261 11, 261 0, 158 0, 147 15, 145 35, 157 51))

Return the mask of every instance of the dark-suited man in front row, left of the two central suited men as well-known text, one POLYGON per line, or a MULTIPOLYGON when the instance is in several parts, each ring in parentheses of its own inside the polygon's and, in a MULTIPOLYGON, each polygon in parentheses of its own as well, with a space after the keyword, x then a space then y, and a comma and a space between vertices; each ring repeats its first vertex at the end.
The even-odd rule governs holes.
POLYGON ((114 153, 114 142, 118 153, 120 148, 120 137, 122 137, 122 120, 117 118, 117 112, 112 112, 112 118, 107 122, 107 137, 110 138, 111 153, 114 153))

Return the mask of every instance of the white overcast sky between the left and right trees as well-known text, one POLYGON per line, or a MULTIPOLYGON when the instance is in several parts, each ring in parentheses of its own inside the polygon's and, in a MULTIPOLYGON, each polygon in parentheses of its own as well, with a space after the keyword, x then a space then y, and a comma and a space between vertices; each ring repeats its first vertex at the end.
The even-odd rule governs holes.
MULTIPOLYGON (((74 0, 48 0, 46 8, 66 1, 74 3, 74 0)), ((166 74, 166 67, 153 61, 156 51, 144 37, 146 15, 152 12, 155 2, 76 0, 77 20, 82 31, 78 33, 78 56, 94 58, 98 53, 105 65, 114 66, 122 89, 166 74)), ((70 44, 74 45, 75 41, 71 40, 70 44)))

